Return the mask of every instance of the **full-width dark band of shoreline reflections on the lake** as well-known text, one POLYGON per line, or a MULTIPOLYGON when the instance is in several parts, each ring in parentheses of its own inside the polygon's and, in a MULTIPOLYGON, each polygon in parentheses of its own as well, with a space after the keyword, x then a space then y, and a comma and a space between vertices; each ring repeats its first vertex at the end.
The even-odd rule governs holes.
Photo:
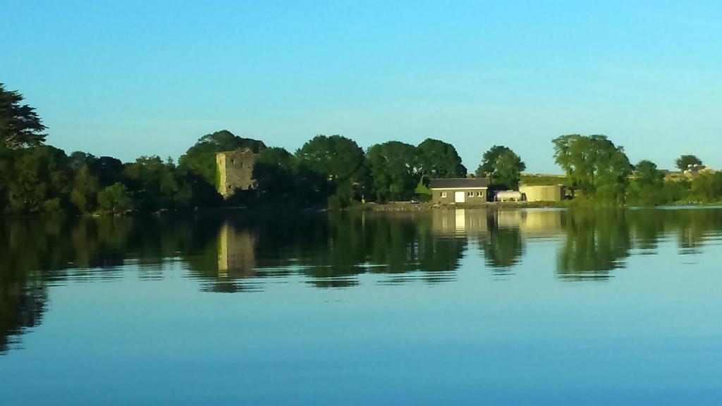
POLYGON ((299 277, 316 288, 456 280, 461 261, 513 275, 535 241, 552 243, 560 280, 605 280, 661 243, 700 254, 722 210, 433 210, 178 217, 25 218, 0 222, 0 353, 40 324, 48 286, 164 277, 180 264, 207 292, 258 292, 299 277), (477 265, 478 264, 478 265, 477 265))

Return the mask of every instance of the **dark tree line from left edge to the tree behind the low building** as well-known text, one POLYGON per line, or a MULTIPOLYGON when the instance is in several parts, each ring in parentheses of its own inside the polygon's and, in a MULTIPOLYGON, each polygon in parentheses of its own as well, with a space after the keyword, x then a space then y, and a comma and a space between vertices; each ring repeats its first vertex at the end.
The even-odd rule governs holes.
MULTIPOLYGON (((467 176, 453 145, 426 139, 418 145, 384 142, 367 150, 347 137, 318 135, 295 153, 264 142, 217 131, 201 137, 178 163, 143 156, 123 163, 115 157, 66 152, 45 144, 35 109, 17 91, 0 84, 0 212, 117 214, 130 210, 252 206, 347 207, 362 200, 388 202, 430 196, 430 178, 467 176), (256 152, 256 187, 230 199, 217 193, 217 152, 256 152)), ((507 147, 492 147, 479 176, 495 187, 518 185, 524 164, 507 147)))

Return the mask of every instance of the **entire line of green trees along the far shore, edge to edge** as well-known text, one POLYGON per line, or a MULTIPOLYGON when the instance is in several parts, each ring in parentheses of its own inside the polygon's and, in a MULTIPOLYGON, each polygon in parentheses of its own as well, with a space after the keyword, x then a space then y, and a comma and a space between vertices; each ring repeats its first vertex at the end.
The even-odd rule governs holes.
MULTIPOLYGON (((114 157, 66 152, 45 144, 46 127, 17 91, 0 84, 0 212, 117 214, 192 207, 285 205, 348 207, 361 201, 430 199, 430 178, 490 178, 490 189, 517 189, 525 163, 495 145, 469 174, 456 148, 438 139, 418 145, 383 142, 363 150, 340 135, 318 135, 291 153, 264 142, 217 131, 201 137, 178 163, 143 156, 114 157), (256 152, 256 187, 230 199, 217 193, 217 152, 256 152)), ((631 165, 624 149, 602 135, 564 135, 553 140, 554 159, 578 200, 605 204, 670 204, 722 200, 722 174, 666 181, 648 160, 631 165)), ((700 165, 683 155, 679 168, 700 165)))

